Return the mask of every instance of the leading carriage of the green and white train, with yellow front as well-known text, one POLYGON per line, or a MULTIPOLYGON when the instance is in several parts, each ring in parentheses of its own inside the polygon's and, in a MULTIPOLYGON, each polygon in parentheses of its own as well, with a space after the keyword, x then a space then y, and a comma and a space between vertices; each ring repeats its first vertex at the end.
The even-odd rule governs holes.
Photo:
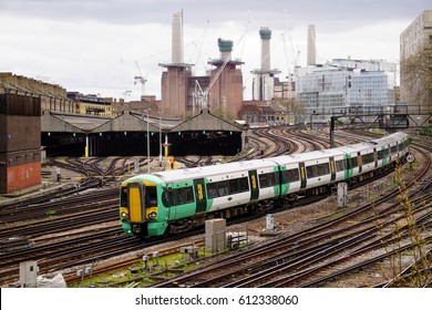
POLYGON ((123 229, 151 236, 168 226, 169 232, 182 231, 204 224, 209 213, 279 196, 275 172, 274 162, 256 159, 135 176, 122 184, 123 229))

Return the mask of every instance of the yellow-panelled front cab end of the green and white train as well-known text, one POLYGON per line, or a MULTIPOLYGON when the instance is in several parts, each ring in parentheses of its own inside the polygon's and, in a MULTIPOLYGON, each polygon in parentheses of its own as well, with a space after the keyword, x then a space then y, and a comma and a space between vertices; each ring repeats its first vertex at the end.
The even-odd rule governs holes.
POLYGON ((146 237, 157 217, 155 185, 142 182, 123 184, 120 197, 122 228, 128 236, 146 237))

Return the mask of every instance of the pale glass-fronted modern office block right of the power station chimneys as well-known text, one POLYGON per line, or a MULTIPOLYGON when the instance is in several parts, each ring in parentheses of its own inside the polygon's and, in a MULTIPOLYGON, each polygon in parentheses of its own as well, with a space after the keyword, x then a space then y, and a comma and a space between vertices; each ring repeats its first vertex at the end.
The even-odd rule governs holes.
POLYGON ((333 60, 299 71, 297 99, 317 122, 349 107, 394 104, 395 64, 384 61, 333 60), (387 69, 387 70, 383 70, 387 69))

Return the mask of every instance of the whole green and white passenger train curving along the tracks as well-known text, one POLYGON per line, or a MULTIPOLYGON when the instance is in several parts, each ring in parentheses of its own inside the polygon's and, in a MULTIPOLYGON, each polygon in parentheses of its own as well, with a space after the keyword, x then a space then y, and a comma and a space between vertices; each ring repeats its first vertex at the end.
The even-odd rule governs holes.
POLYGON ((366 143, 196 168, 143 174, 121 185, 120 217, 128 236, 167 236, 328 193, 404 161, 410 141, 394 133, 366 143))

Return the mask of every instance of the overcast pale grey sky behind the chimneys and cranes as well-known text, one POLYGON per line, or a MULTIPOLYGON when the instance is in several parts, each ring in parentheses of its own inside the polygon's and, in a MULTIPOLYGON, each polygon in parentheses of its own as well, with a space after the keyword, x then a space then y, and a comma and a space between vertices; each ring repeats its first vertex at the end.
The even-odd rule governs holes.
POLYGON ((172 17, 183 10, 184 61, 204 74, 207 61, 219 58, 217 39, 232 40, 250 99, 260 27, 271 29, 271 68, 285 80, 297 54, 306 65, 308 24, 316 27, 318 62, 348 55, 398 62, 400 33, 431 7, 430 0, 0 0, 0 72, 84 94, 131 91, 127 100, 137 100, 141 71, 146 94, 161 99, 158 64, 172 60, 172 17))

